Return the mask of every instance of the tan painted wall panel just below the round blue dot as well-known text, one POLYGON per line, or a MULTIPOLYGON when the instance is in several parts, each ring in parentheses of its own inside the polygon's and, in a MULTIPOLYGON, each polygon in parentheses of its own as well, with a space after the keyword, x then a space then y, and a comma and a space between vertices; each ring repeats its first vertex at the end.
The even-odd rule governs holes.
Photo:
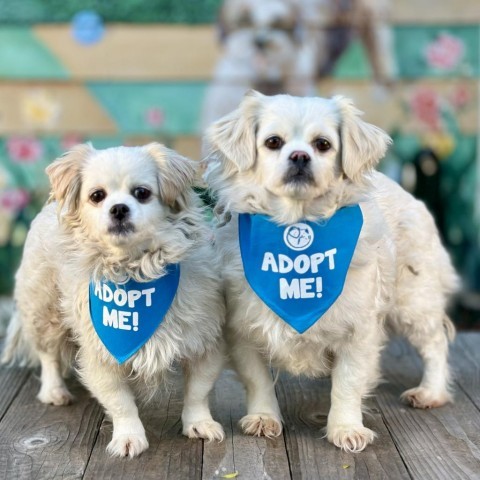
POLYGON ((206 80, 219 47, 213 26, 107 24, 102 40, 77 43, 70 25, 37 25, 35 35, 74 78, 206 80))

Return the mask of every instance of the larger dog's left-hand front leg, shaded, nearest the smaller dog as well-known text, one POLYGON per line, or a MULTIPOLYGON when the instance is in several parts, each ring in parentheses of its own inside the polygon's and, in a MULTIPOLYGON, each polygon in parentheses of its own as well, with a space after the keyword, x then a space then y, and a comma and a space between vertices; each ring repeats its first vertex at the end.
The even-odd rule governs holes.
POLYGON ((278 437, 282 433, 280 407, 270 370, 254 346, 238 340, 231 350, 234 367, 247 390, 247 415, 240 420, 248 435, 278 437))

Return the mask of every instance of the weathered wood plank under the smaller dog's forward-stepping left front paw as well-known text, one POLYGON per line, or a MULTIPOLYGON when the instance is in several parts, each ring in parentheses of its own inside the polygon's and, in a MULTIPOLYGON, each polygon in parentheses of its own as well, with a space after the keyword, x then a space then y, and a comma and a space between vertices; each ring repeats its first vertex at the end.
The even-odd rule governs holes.
POLYGON ((200 479, 203 442, 182 435, 182 405, 182 378, 175 375, 168 391, 161 392, 152 403, 140 407, 140 418, 150 446, 140 457, 132 460, 113 458, 106 453, 105 449, 112 438, 112 424, 104 421, 85 472, 85 480, 200 479))

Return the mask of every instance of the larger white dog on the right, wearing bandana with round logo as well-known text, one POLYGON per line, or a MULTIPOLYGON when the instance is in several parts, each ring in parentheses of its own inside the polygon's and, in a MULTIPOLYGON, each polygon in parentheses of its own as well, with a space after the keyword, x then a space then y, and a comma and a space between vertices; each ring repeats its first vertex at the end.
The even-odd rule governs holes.
POLYGON ((363 426, 362 398, 380 376, 385 321, 425 363, 404 399, 419 408, 452 399, 445 307, 457 276, 425 206, 373 171, 391 139, 360 113, 340 96, 250 92, 207 132, 248 434, 281 433, 272 365, 331 375, 326 436, 363 450, 375 434, 363 426))

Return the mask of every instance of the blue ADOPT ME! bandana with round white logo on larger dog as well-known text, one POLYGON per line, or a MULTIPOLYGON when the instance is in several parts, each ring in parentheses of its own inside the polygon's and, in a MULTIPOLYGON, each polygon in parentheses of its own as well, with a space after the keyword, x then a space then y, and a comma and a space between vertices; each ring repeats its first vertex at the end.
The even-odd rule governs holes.
POLYGON ((303 333, 342 293, 362 225, 359 205, 326 220, 288 226, 242 213, 238 229, 245 277, 271 310, 303 333))

